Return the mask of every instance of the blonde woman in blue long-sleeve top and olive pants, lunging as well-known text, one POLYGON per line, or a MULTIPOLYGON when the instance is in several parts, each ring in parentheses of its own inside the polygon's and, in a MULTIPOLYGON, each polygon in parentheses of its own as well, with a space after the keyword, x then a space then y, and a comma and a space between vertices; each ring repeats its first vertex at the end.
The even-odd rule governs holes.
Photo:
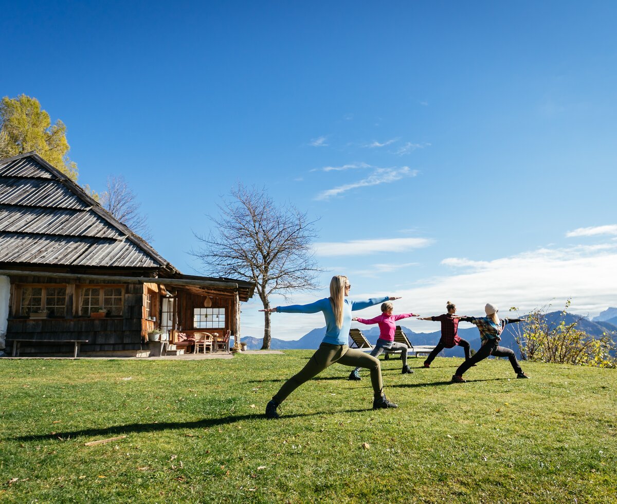
POLYGON ((366 353, 360 350, 350 349, 347 343, 349 342, 352 310, 362 310, 362 308, 399 298, 386 296, 365 301, 350 301, 345 299, 349 295, 350 288, 347 277, 337 275, 333 276, 330 281, 330 297, 325 297, 309 305, 279 306, 259 310, 260 312, 275 313, 323 312, 326 318, 326 336, 323 338, 323 342, 321 342, 317 352, 313 353, 313 357, 310 358, 304 368, 289 378, 272 400, 268 402, 266 406, 267 418, 279 418, 280 415, 276 412, 276 409, 288 395, 305 381, 309 381, 313 376, 317 376, 317 374, 335 362, 354 368, 367 368, 371 371, 371 384, 375 394, 375 399, 373 400, 374 410, 397 407, 397 405, 386 399, 386 395, 383 392, 379 360, 371 355, 366 355, 366 353))

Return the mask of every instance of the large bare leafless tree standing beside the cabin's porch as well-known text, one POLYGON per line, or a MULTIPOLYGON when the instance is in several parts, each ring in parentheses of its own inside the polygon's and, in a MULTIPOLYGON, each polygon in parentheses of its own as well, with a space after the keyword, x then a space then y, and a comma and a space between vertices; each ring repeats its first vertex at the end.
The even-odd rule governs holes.
MULTIPOLYGON (((218 205, 220 215, 210 217, 215 230, 205 238, 195 234, 203 247, 192 254, 212 276, 255 282, 264 308, 270 294, 316 289, 321 273, 310 246, 316 238, 315 221, 294 205, 277 205, 264 188, 238 184, 231 200, 218 205)), ((262 350, 270 349, 270 312, 264 312, 262 350)))

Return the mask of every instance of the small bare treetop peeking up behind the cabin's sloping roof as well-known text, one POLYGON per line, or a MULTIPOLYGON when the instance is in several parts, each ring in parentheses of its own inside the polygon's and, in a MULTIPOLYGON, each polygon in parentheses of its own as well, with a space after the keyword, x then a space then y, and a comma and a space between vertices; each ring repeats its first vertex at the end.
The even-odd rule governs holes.
POLYGON ((152 233, 146 215, 139 212, 141 203, 122 175, 107 177, 107 191, 100 196, 101 206, 115 218, 146 241, 152 241, 152 233))

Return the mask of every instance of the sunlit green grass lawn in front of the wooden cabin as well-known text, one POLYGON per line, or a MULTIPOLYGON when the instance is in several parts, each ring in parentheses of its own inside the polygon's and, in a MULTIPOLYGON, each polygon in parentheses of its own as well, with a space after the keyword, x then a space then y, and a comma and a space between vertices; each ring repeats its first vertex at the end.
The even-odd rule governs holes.
POLYGON ((615 370, 382 361, 373 411, 334 365, 266 420, 310 355, 0 360, 0 501, 617 502, 615 370))

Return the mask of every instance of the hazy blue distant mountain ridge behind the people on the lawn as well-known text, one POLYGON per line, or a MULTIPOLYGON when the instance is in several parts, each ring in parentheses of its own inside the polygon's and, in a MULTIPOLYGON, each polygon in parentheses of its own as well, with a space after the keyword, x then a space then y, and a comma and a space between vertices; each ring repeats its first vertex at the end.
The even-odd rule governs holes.
MULTIPOLYGON (((609 308, 616 309, 617 308, 609 308)), ((608 310, 605 310, 606 313, 608 310)), ((561 312, 551 312, 547 313, 547 320, 557 321, 561 316, 561 312)), ((565 321, 566 324, 573 323, 578 318, 579 315, 573 315, 571 313, 566 313, 565 321)), ((597 317, 596 317, 597 318, 597 317)), ((617 318, 617 317, 616 317, 617 318)), ((595 320, 595 318, 594 318, 595 320)), ((516 344, 515 331, 516 325, 518 324, 508 324, 505 327, 505 330, 502 333, 502 341, 500 345, 503 347, 508 347, 513 349, 517 356, 520 357, 520 352, 518 350, 518 345, 516 344)), ((438 326, 438 325, 437 325, 438 326)), ((375 345, 379 337, 379 328, 377 326, 366 326, 366 329, 362 329, 362 333, 366 336, 366 339, 370 341, 371 344, 375 345)), ((407 337, 412 342, 412 345, 436 345, 439 342, 439 338, 441 337, 441 330, 435 331, 434 333, 415 333, 412 329, 407 328, 407 326, 401 326, 407 337)), ((586 318, 582 318, 579 321, 579 328, 585 331, 587 334, 590 334, 595 337, 600 337, 605 333, 608 333, 612 336, 613 341, 617 342, 617 320, 613 320, 612 318, 608 321, 591 321, 586 318)), ((309 333, 302 336, 300 339, 296 340, 284 340, 278 338, 272 338, 270 341, 270 349, 272 350, 292 350, 292 349, 306 349, 306 350, 315 350, 321 344, 323 337, 326 334, 326 328, 317 328, 312 329, 309 333)), ((473 326, 468 322, 462 322, 458 327, 458 336, 466 339, 470 342, 472 349, 478 349, 480 347, 480 336, 478 333, 478 328, 473 326)), ((256 338, 252 336, 242 337, 241 341, 247 344, 247 349, 249 350, 259 350, 263 344, 263 338, 256 338)), ((445 355, 445 357, 465 357, 465 353, 461 347, 453 347, 452 349, 445 349, 441 353, 441 355, 445 355)))

